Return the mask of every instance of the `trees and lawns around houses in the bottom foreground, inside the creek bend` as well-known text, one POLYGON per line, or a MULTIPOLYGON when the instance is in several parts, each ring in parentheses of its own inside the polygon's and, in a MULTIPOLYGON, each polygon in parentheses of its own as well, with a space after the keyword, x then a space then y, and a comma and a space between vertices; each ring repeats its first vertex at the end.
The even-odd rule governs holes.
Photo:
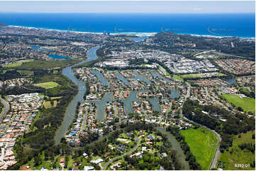
MULTIPOLYGON (((169 141, 167 141, 165 134, 156 131, 152 124, 144 124, 142 122, 138 122, 136 124, 123 124, 123 126, 124 127, 116 129, 111 134, 108 134, 107 136, 104 136, 99 140, 95 138, 92 143, 87 143, 86 146, 84 146, 84 148, 77 148, 76 150, 73 150, 73 148, 71 148, 71 146, 65 141, 65 139, 62 138, 62 141, 59 145, 50 146, 48 148, 45 148, 41 152, 37 151, 37 153, 34 153, 32 158, 28 158, 29 160, 26 163, 23 163, 22 165, 16 164, 16 167, 13 168, 16 168, 18 170, 21 169, 21 167, 29 165, 33 170, 38 170, 40 169, 40 167, 43 166, 45 166, 48 170, 52 170, 53 168, 56 167, 61 168, 60 159, 65 158, 64 168, 66 170, 68 167, 83 170, 84 165, 93 165, 96 170, 101 170, 101 167, 99 167, 99 165, 91 164, 90 160, 96 160, 97 158, 108 160, 116 156, 122 155, 123 153, 121 151, 116 149, 110 149, 108 147, 108 144, 110 143, 112 144, 112 146, 123 145, 123 143, 121 142, 118 143, 118 141, 116 141, 116 138, 127 138, 127 132, 133 134, 132 137, 129 137, 130 141, 133 141, 133 143, 127 144, 126 149, 127 151, 130 151, 130 149, 132 149, 135 146, 135 136, 139 136, 138 130, 144 130, 143 132, 145 134, 154 135, 156 137, 154 145, 150 147, 154 149, 152 152, 159 151, 159 154, 167 153, 167 157, 160 158, 159 156, 156 155, 156 153, 150 153, 148 151, 145 151, 142 155, 142 158, 130 158, 128 156, 121 158, 121 160, 119 160, 121 161, 121 163, 123 163, 121 165, 121 168, 123 168, 123 170, 150 170, 158 169, 161 165, 166 170, 172 170, 173 167, 179 170, 180 166, 176 160, 176 153, 172 151, 172 146, 169 143, 169 141), (164 143, 160 143, 160 136, 162 137, 161 141, 164 143), (84 158, 82 156, 83 153, 87 153, 88 157, 84 158), (110 153, 111 155, 107 157, 106 153, 110 153), (74 163, 77 163, 77 165, 73 166, 74 163)), ((91 135, 88 135, 88 137, 91 137, 91 135)), ((139 146, 146 146, 145 141, 143 140, 143 136, 141 136, 140 138, 141 141, 139 146)), ((141 147, 139 148, 141 149, 141 147)), ((25 149, 25 151, 28 151, 28 149, 25 149)), ((27 157, 23 156, 23 158, 27 157)), ((105 164, 106 163, 102 163, 101 166, 104 166, 105 164)), ((108 165, 107 169, 109 168, 109 166, 110 165, 108 165)))

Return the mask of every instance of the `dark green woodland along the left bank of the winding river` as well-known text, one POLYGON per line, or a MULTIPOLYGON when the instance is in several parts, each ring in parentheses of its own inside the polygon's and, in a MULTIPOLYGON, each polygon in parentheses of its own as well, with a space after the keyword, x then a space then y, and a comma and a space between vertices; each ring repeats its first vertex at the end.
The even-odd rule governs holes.
MULTIPOLYGON (((43 89, 43 93, 50 97, 62 97, 58 99, 59 102, 53 105, 56 107, 51 108, 40 108, 40 116, 35 119, 28 133, 20 136, 16 141, 13 149, 16 153, 16 158, 18 163, 13 165, 11 170, 18 170, 21 166, 28 163, 30 160, 35 160, 36 166, 41 165, 43 160, 40 159, 43 151, 45 153, 45 158, 53 158, 52 147, 55 143, 55 131, 62 123, 62 118, 65 114, 65 109, 72 97, 77 93, 76 86, 60 73, 56 74, 43 74, 40 76, 35 76, 35 83, 49 82, 54 80, 60 86, 50 89, 43 89), (72 88, 73 87, 73 88, 72 88), (45 149, 47 149, 45 151, 45 149), (50 157, 52 156, 52 157, 50 157)), ((53 102, 54 103, 54 102, 53 102)), ((51 104, 52 105, 52 104, 51 104)))

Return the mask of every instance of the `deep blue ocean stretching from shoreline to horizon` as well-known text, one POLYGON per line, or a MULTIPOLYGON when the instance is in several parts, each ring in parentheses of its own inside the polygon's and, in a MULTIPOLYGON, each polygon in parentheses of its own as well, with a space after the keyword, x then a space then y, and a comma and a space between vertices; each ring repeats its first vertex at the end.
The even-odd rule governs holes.
POLYGON ((6 25, 91 33, 186 33, 255 37, 255 13, 0 13, 6 25), (211 30, 211 33, 208 31, 211 30))

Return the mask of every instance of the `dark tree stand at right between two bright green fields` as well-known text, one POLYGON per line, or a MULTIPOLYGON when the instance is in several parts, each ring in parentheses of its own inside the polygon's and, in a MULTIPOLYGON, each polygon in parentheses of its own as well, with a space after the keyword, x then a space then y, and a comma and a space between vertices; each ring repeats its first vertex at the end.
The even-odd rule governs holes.
POLYGON ((232 146, 233 135, 255 129, 255 119, 248 118, 245 114, 233 114, 213 105, 199 105, 198 101, 187 100, 184 102, 182 112, 188 119, 207 126, 221 135, 222 141, 220 146, 222 153, 228 146, 232 146), (209 114, 202 112, 203 110, 209 114, 218 114, 225 118, 226 122, 210 117, 209 114))

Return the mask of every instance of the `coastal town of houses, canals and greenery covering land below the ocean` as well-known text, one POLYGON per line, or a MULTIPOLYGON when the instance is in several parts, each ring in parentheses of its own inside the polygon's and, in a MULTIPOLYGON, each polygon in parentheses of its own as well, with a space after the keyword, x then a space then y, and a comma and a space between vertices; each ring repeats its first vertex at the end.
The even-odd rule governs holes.
POLYGON ((206 37, 175 35, 174 52, 159 48, 174 34, 1 28, 1 170, 226 170, 255 136, 255 60, 206 37))

